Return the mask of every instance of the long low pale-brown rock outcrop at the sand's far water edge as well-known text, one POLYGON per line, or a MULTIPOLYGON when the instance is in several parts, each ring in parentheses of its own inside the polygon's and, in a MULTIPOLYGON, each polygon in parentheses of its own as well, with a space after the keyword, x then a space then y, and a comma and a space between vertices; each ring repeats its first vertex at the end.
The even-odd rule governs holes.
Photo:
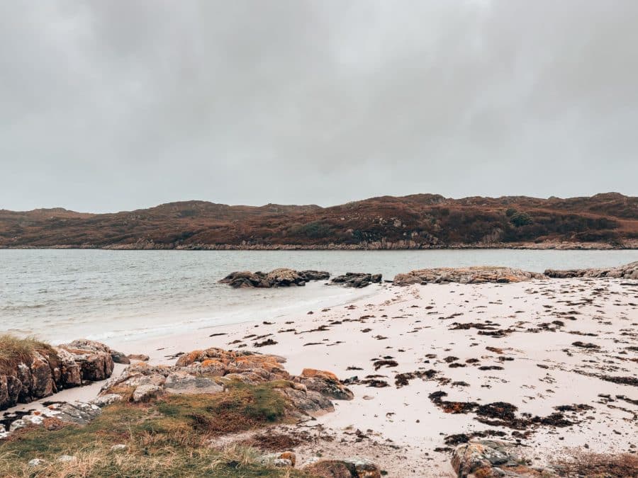
POLYGON ((532 279, 547 278, 536 272, 522 271, 509 267, 475 266, 464 268, 419 269, 394 276, 394 285, 427 284, 427 283, 512 283, 532 279))

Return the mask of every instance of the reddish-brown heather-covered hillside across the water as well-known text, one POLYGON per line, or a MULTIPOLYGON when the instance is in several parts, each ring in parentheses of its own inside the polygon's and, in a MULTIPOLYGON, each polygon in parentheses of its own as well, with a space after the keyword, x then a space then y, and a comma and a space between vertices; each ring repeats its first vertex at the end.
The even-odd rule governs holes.
POLYGON ((618 193, 569 199, 417 194, 333 207, 185 201, 95 215, 61 208, 0 210, 4 248, 420 249, 553 246, 565 241, 574 246, 635 247, 638 198, 618 193))

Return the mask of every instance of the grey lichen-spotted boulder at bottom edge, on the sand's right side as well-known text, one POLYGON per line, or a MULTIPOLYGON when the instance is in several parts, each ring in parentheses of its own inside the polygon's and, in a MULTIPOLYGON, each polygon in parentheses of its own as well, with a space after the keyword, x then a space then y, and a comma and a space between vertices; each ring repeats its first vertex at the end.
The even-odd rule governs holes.
POLYGON ((557 477, 551 468, 532 467, 522 457, 520 446, 497 440, 477 440, 457 446, 452 467, 466 477, 557 477))

